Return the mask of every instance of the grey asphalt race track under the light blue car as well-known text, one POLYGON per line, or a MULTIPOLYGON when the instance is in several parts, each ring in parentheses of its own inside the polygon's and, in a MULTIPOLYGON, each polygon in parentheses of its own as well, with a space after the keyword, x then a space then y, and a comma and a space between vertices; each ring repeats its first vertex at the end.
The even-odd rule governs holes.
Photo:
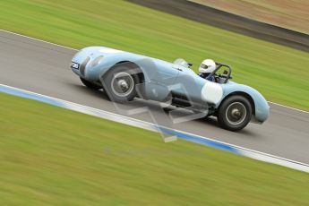
POLYGON ((110 102, 103 91, 82 86, 69 68, 75 53, 70 48, 0 30, 0 83, 153 123, 151 113, 158 124, 309 164, 309 113, 270 104, 266 123, 249 124, 237 133, 219 128, 212 118, 171 124, 154 102, 138 100, 119 106, 110 102), (150 113, 125 115, 125 111, 141 107, 148 107, 150 113))

